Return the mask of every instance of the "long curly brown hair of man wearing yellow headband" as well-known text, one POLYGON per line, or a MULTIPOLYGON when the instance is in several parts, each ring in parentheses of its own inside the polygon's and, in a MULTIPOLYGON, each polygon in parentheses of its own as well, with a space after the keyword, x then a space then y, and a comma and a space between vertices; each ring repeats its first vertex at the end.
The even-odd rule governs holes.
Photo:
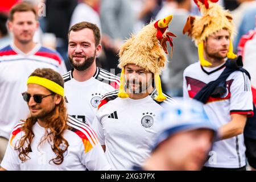
MULTIPOLYGON (((61 75, 52 69, 43 68, 43 69, 36 69, 30 76, 38 76, 47 78, 48 80, 54 81, 60 86, 64 88, 64 80, 61 75)), ((49 161, 52 161, 55 164, 61 164, 64 160, 64 152, 68 150, 68 141, 63 137, 63 133, 65 130, 69 128, 67 125, 67 108, 65 106, 64 98, 61 98, 60 104, 55 106, 55 109, 47 115, 47 124, 46 128, 46 135, 43 137, 42 141, 39 145, 44 141, 47 140, 51 146, 53 152, 57 155, 56 158, 49 161)), ((33 125, 37 122, 37 118, 29 117, 24 122, 24 126, 22 130, 24 131, 23 137, 19 140, 18 147, 15 150, 19 151, 19 159, 22 162, 26 162, 27 159, 30 159, 28 153, 31 151, 31 142, 34 138, 35 134, 32 131, 33 125), (25 145, 26 143, 26 145, 25 145), (27 146, 26 148, 24 148, 27 146)))

